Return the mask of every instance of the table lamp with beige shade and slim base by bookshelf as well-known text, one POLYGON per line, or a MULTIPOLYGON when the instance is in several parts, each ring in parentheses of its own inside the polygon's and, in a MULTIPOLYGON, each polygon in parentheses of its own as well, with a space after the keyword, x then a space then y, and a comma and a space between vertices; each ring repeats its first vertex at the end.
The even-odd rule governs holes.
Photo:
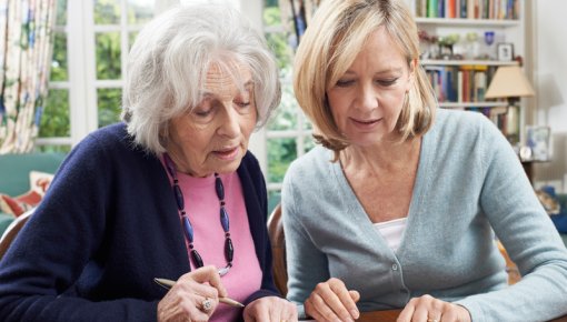
POLYGON ((508 100, 504 130, 511 144, 519 143, 519 99, 533 95, 535 95, 534 88, 519 66, 499 67, 488 85, 486 99, 505 98, 508 100))

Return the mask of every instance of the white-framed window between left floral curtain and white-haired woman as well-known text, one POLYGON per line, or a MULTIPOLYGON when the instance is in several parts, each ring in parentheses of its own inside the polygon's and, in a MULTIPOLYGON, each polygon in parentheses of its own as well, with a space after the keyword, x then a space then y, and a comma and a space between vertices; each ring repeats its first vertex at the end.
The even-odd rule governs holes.
POLYGON ((89 132, 119 120, 127 54, 153 6, 155 0, 57 0, 41 150, 69 151, 89 132))

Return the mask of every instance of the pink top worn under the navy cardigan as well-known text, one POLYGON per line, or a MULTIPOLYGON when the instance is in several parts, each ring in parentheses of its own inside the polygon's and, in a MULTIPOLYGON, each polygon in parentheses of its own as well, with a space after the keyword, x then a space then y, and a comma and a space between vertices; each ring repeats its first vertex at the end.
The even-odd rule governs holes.
MULTIPOLYGON (((220 223, 220 202, 215 191, 215 175, 193 178, 177 173, 183 192, 185 209, 193 227, 193 245, 205 265, 225 268, 225 231, 220 223)), ((229 298, 243 302, 260 289, 262 272, 253 246, 240 178, 236 172, 220 174, 225 185, 226 209, 230 219, 230 237, 235 246, 232 268, 221 278, 229 298)), ((172 182, 171 178, 170 181, 172 182)), ((181 224, 181 221, 179 222, 181 224)), ((189 243, 186 240, 187 249, 189 243)), ((188 253, 190 256, 190 254, 188 253)), ((191 269, 195 270, 190 261, 191 269)), ((220 303, 209 321, 235 321, 241 310, 220 303)))

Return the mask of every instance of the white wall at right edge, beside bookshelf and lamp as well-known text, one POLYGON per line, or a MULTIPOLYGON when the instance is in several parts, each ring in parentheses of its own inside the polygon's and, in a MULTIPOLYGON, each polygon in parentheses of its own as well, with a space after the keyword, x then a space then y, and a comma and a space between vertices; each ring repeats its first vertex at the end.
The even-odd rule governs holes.
MULTIPOLYGON (((553 161, 536 164, 535 185, 567 192, 567 1, 533 0, 531 121, 551 128, 553 161)), ((528 31, 529 32, 529 31, 528 31)), ((529 50, 529 49, 528 49, 529 50)))

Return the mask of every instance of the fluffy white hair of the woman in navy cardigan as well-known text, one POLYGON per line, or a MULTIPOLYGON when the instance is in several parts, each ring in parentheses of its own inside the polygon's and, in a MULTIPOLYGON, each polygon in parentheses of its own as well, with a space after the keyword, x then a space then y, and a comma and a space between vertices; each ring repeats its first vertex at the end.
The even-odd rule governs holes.
POLYGON ((188 3, 149 22, 130 50, 122 120, 138 144, 153 153, 166 151, 169 121, 202 100, 211 64, 228 71, 237 84, 238 66, 250 70, 256 125, 266 123, 279 104, 281 89, 263 37, 226 3, 188 3))

